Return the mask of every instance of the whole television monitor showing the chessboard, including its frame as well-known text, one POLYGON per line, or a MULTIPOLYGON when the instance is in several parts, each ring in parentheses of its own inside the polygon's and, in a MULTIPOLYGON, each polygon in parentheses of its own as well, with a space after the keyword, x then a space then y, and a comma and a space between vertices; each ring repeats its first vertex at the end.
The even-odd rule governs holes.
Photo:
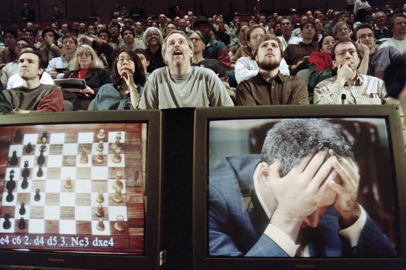
POLYGON ((158 269, 160 112, 0 115, 0 266, 158 269))

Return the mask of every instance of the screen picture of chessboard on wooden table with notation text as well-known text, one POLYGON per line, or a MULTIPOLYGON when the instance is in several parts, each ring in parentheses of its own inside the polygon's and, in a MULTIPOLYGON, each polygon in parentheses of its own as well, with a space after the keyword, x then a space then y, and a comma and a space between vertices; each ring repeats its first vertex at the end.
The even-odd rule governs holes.
POLYGON ((144 254, 146 129, 0 127, 0 249, 144 254))

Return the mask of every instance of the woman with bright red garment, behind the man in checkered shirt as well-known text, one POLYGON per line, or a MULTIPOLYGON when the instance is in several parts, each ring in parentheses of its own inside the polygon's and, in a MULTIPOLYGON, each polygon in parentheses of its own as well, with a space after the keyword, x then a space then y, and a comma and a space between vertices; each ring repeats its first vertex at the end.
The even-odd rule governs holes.
POLYGON ((313 90, 318 83, 337 74, 331 60, 331 52, 334 48, 335 39, 331 35, 326 35, 319 42, 319 52, 312 52, 309 57, 309 101, 313 104, 313 90))

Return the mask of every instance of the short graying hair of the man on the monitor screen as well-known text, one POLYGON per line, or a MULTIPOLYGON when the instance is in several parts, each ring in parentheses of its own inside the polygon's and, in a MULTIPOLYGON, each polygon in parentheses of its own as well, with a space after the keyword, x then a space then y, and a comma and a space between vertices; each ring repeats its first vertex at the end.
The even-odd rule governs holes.
POLYGON ((304 156, 313 150, 318 152, 326 148, 333 150, 333 155, 354 155, 350 144, 330 122, 321 119, 285 119, 267 132, 261 161, 270 165, 278 160, 283 177, 304 156))

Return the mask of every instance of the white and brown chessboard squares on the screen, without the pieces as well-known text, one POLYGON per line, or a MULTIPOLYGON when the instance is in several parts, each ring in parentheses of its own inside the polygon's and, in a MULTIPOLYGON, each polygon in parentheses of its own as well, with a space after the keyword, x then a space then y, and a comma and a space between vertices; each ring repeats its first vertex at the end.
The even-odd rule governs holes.
MULTIPOLYGON (((9 147, 5 181, 9 181, 9 175, 14 170, 14 181, 16 188, 12 194, 13 201, 7 202, 8 192, 4 189, 2 198, 2 213, 7 211, 10 214, 11 228, 5 230, 0 226, 0 233, 30 233, 30 234, 60 234, 60 235, 97 235, 110 236, 122 233, 115 231, 114 223, 117 216, 122 215, 124 222, 128 222, 126 201, 126 181, 121 179, 123 189, 121 190, 123 203, 114 203, 115 189, 113 184, 116 181, 115 172, 125 169, 125 155, 120 153, 121 162, 114 163, 114 151, 111 145, 116 142, 117 131, 105 133, 103 139, 104 163, 97 164, 98 141, 97 132, 78 132, 72 139, 69 133, 49 133, 46 141, 46 151, 43 152, 45 163, 42 165, 43 176, 37 176, 40 156, 41 134, 25 133, 21 143, 12 143, 9 147), (25 149, 31 143, 32 151, 26 153, 25 149), (81 163, 80 157, 82 148, 89 150, 87 155, 88 163, 81 163), (11 166, 10 159, 16 151, 18 157, 17 165, 11 166), (27 177, 27 188, 21 188, 24 170, 24 162, 28 162, 29 176, 27 177), (66 178, 71 177, 72 187, 65 188, 66 178), (35 191, 40 189, 41 199, 35 201, 35 191), (99 231, 96 226, 99 217, 96 216, 98 191, 103 191, 105 215, 101 217, 105 230, 99 231), (25 214, 20 215, 21 203, 25 204, 25 214), (7 209, 6 209, 7 208, 7 209), (20 230, 18 221, 24 217, 26 228, 20 230)), ((120 144, 125 147, 125 132, 121 132, 120 144)), ((124 175, 125 176, 125 175, 124 175)), ((0 209, 1 210, 1 209, 0 209)), ((0 224, 4 217, 0 218, 0 224)))

